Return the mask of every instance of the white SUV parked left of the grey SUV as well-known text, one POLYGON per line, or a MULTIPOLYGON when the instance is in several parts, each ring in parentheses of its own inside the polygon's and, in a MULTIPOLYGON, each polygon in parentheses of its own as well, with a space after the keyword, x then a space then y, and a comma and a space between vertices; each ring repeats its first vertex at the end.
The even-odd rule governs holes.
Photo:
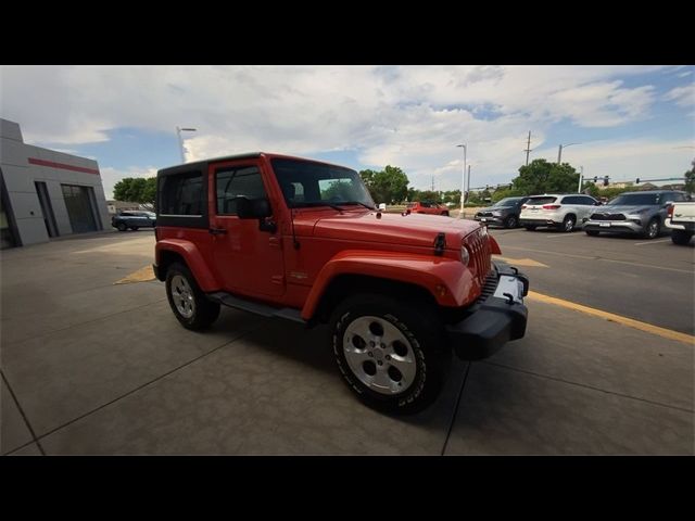
POLYGON ((596 209, 594 206, 599 205, 591 195, 581 193, 532 195, 521 205, 519 223, 531 231, 541 226, 569 232, 581 227, 583 220, 596 209))

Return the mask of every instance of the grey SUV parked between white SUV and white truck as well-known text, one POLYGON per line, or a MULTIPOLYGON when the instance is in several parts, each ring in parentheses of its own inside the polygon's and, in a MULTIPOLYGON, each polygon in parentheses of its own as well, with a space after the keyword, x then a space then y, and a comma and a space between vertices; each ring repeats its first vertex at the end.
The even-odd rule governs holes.
POLYGON ((607 232, 634 233, 654 239, 661 232, 669 204, 686 200, 685 192, 673 190, 623 192, 596 209, 584 223, 584 230, 594 237, 607 232))

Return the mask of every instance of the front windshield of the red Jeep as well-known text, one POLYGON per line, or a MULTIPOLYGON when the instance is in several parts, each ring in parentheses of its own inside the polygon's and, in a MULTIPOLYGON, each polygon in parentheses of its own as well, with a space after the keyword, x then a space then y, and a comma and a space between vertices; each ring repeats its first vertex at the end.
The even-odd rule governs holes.
POLYGON ((301 160, 274 158, 270 163, 290 208, 339 205, 374 208, 374 201, 355 170, 301 160))

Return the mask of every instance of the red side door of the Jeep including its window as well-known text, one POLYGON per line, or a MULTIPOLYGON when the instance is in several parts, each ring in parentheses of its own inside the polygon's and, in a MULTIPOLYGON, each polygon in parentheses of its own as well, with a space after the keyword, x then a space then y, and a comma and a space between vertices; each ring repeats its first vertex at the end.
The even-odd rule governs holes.
POLYGON ((217 280, 224 290, 250 296, 285 293, 279 232, 262 231, 258 219, 240 219, 235 198, 267 198, 257 160, 210 165, 210 232, 217 280))

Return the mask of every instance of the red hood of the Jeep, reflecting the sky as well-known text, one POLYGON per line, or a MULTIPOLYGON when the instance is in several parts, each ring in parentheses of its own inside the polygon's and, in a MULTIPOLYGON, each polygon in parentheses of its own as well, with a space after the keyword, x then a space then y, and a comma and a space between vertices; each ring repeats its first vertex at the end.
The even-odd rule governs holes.
MULTIPOLYGON (((382 213, 380 217, 377 215, 377 212, 344 212, 319 217, 315 219, 311 234, 342 241, 432 247, 437 234, 443 232, 446 238, 446 249, 458 250, 462 239, 481 226, 473 220, 439 215, 387 213, 382 213)), ((298 220, 295 225, 296 223, 298 220)))

